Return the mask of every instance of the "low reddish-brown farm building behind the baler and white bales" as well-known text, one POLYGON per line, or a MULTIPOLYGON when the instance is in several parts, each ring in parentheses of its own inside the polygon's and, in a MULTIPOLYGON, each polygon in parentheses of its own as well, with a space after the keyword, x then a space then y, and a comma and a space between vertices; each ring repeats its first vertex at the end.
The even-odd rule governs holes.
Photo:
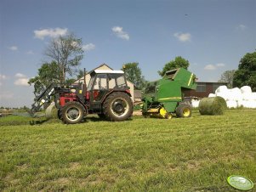
POLYGON ((196 90, 186 90, 185 97, 205 98, 209 93, 215 93, 219 86, 227 85, 225 82, 197 82, 196 90))

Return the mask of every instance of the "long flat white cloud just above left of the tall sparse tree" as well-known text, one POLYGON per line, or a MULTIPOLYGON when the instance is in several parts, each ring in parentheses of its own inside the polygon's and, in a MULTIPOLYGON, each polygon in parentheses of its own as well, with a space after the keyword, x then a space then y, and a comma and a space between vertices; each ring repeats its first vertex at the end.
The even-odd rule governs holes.
POLYGON ((38 39, 43 40, 44 37, 58 37, 58 36, 65 36, 67 34, 68 30, 67 28, 49 28, 49 29, 43 29, 43 30, 35 30, 35 37, 38 39))

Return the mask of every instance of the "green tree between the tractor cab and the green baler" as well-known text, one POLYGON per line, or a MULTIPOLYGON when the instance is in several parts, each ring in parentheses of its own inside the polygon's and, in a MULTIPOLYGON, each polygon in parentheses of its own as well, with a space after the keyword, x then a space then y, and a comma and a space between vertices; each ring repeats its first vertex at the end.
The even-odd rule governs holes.
POLYGON ((139 63, 124 64, 122 65, 122 71, 124 71, 124 75, 129 82, 133 82, 137 88, 142 89, 146 81, 138 65, 139 63))

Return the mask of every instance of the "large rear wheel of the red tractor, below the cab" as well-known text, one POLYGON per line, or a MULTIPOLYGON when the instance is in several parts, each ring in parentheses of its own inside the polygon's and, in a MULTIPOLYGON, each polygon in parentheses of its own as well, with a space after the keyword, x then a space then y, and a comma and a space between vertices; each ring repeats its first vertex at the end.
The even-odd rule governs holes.
POLYGON ((110 121, 125 121, 133 114, 134 105, 127 93, 111 93, 103 104, 105 117, 110 121))

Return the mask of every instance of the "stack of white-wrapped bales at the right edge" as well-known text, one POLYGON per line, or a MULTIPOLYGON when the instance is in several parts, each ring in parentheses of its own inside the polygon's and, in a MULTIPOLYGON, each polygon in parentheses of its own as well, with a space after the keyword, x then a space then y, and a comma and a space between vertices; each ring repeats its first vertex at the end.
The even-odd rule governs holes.
POLYGON ((222 97, 225 99, 228 108, 245 107, 256 109, 256 93, 252 92, 249 86, 242 88, 227 88, 220 86, 216 89, 215 94, 210 93, 208 97, 222 97))

